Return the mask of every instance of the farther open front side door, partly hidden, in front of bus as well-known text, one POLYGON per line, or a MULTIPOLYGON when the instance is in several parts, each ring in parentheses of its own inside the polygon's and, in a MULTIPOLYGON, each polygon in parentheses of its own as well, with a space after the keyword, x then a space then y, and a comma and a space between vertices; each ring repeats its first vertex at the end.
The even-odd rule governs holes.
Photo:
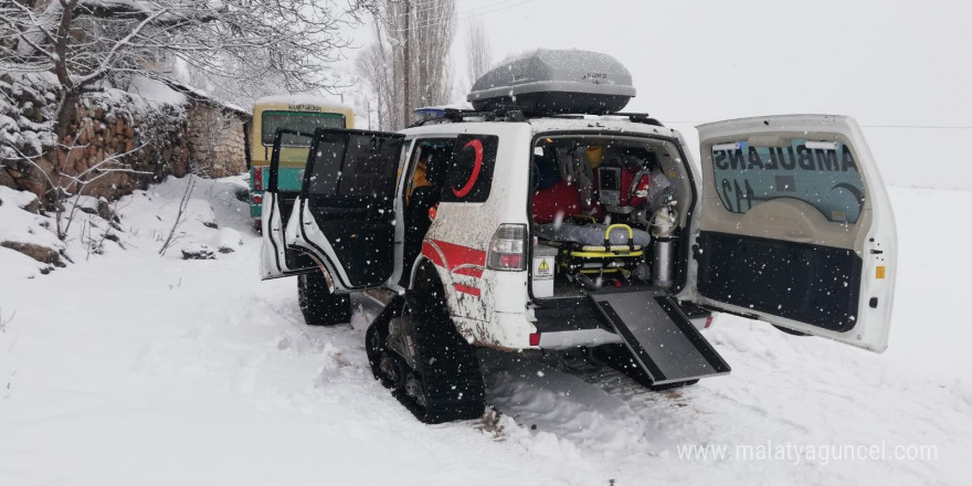
POLYGON ((284 237, 286 222, 289 221, 294 202, 286 201, 279 193, 281 148, 284 140, 294 138, 311 139, 314 134, 277 129, 274 135, 273 152, 270 158, 270 173, 263 193, 261 230, 263 241, 260 249, 261 279, 279 278, 317 271, 317 265, 303 251, 289 247, 284 237))

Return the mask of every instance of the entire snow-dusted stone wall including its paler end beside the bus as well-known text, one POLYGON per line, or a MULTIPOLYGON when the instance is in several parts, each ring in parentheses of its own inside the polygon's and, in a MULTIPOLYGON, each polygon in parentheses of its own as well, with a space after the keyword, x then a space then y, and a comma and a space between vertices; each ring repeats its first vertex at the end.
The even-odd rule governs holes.
POLYGON ((76 139, 61 140, 71 147, 65 149, 51 131, 57 97, 46 73, 0 75, 0 186, 42 199, 52 184, 116 199, 170 175, 218 178, 246 170, 250 118, 239 109, 199 95, 167 104, 119 89, 92 93, 70 127, 76 139))

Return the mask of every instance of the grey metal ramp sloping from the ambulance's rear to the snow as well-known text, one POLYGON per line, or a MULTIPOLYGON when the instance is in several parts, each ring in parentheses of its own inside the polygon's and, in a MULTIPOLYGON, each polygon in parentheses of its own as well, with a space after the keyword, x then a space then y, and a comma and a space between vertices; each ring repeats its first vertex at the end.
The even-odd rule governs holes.
POLYGON ((653 384, 726 374, 729 364, 665 292, 594 294, 594 302, 653 384))

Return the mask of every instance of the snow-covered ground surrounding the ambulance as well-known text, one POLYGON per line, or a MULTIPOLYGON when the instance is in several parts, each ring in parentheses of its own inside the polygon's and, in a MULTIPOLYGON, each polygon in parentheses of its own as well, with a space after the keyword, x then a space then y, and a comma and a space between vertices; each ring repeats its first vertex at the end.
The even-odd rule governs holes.
MULTIPOLYGON (((891 190, 900 268, 884 355, 721 316, 707 338, 732 373, 652 393, 578 360, 484 352, 501 415, 426 426, 371 378, 372 305, 351 326, 310 328, 294 279, 258 281, 239 181, 199 181, 184 234, 158 255, 186 183, 118 203, 127 250, 108 241, 88 256, 75 233, 75 263, 40 275, 0 249, 0 484, 970 480, 972 330, 960 306, 972 260, 952 249, 972 237, 960 213, 972 192, 891 190), (181 260, 201 244, 234 251, 181 260), (802 455, 774 457, 788 443, 802 455), (709 456, 679 454, 696 445, 709 456)), ((4 231, 36 228, 9 214, 4 231)))

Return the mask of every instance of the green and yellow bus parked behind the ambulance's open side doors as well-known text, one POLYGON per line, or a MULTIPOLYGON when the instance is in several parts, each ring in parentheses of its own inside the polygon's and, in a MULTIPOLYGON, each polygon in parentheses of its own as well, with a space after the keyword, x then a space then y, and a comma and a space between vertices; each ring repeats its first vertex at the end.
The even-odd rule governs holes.
MULTIPOLYGON (((314 133, 315 128, 353 128, 355 112, 340 103, 311 96, 268 96, 253 104, 253 133, 250 137, 250 215, 260 230, 263 191, 270 177, 274 135, 279 128, 314 133)), ((300 192, 309 138, 284 137, 277 187, 282 202, 300 192)))

